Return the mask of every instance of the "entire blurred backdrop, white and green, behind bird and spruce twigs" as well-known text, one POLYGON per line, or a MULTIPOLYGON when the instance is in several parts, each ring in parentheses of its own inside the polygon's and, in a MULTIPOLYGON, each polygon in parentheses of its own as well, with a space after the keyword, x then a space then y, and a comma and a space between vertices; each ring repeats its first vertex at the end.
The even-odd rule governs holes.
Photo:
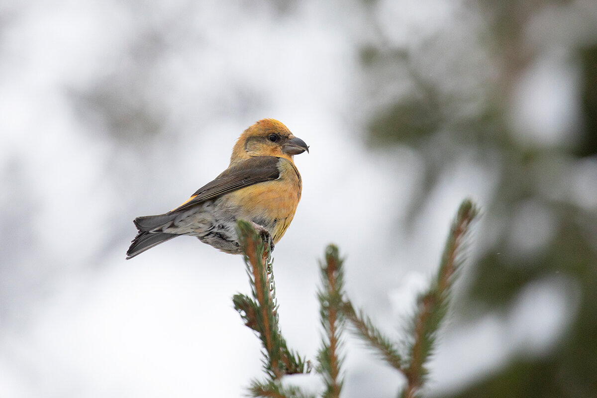
MULTIPOLYGON (((4 1, 0 396, 236 397, 260 345, 239 256, 132 220, 261 118, 310 145, 276 245, 281 327, 319 346, 318 259, 399 335, 465 197, 482 208, 430 397, 597 396, 597 2, 4 1)), ((344 397, 404 380, 348 337, 344 397)), ((316 390, 315 375, 288 382, 316 390)))

